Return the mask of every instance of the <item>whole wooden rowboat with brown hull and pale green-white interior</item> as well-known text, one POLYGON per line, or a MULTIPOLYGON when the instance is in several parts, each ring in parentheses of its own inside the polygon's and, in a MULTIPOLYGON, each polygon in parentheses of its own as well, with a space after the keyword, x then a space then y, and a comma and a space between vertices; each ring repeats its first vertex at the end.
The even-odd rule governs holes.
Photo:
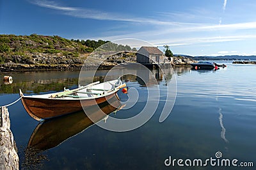
POLYGON ((64 89, 62 92, 44 95, 24 96, 20 90, 20 97, 28 114, 40 121, 106 102, 106 100, 117 97, 117 91, 125 86, 126 84, 123 84, 120 79, 116 79, 102 83, 93 82, 77 89, 64 89))

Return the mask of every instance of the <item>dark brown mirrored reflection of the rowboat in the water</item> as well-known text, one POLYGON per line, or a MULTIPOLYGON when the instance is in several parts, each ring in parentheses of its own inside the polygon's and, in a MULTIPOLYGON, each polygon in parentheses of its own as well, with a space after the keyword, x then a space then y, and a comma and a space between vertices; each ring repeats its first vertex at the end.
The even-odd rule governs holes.
MULTIPOLYGON (((120 108, 120 101, 113 97, 107 102, 87 107, 86 114, 90 115, 94 122, 97 122, 104 120, 108 114, 118 111, 120 108)), ((94 124, 86 114, 84 111, 80 111, 40 122, 29 139, 28 148, 48 150, 79 132, 83 132, 94 124)))

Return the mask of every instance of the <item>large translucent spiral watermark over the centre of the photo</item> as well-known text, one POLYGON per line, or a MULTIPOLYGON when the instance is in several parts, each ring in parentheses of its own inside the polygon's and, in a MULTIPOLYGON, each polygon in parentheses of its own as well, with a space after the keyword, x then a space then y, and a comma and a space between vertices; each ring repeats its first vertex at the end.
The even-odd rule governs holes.
MULTIPOLYGON (((90 56, 88 56, 85 61, 84 65, 81 68, 80 74, 79 74, 79 81, 78 84, 88 84, 90 82, 94 82, 95 75, 97 74, 98 68, 100 65, 104 64, 104 61, 108 60, 109 58, 113 59, 116 55, 122 54, 122 51, 119 51, 115 48, 115 44, 117 45, 129 45, 130 47, 136 47, 139 49, 140 47, 154 47, 154 45, 141 41, 141 40, 135 40, 135 39, 122 39, 122 40, 115 40, 109 43, 105 43, 104 45, 100 46, 98 49, 94 50, 90 56), (88 68, 93 68, 90 71, 88 71, 88 68), (90 78, 89 78, 90 77, 90 78), (88 82, 88 79, 91 79, 88 82)), ((154 47, 156 48, 156 47, 154 47)), ((156 50, 156 49, 154 49, 156 50)), ((124 51, 123 51, 124 52, 124 51)), ((138 52, 137 52, 138 53, 138 52)), ((141 54, 145 57, 148 57, 145 54, 141 54)), ((155 55, 155 54, 154 54, 155 55)), ((157 67, 161 70, 160 72, 164 72, 162 70, 163 63, 159 63, 159 57, 154 56, 150 58, 149 60, 153 60, 157 67)), ((114 59, 115 60, 115 59, 114 59)), ((135 75, 140 79, 141 81, 145 82, 145 86, 149 87, 150 84, 156 85, 157 88, 154 89, 148 89, 147 88, 147 99, 145 100, 145 105, 143 109, 139 109, 138 113, 136 113, 135 116, 131 118, 113 118, 112 116, 109 116, 108 121, 106 123, 102 123, 102 121, 97 121, 93 119, 93 116, 90 114, 90 112, 86 111, 86 107, 83 107, 84 112, 86 115, 92 120, 96 125, 99 127, 102 127, 106 130, 111 130, 114 132, 125 132, 129 130, 134 130, 135 128, 141 127, 145 123, 147 123, 150 118, 154 115, 154 113, 157 110, 157 107, 159 106, 159 102, 161 97, 165 96, 164 99, 164 106, 163 109, 161 109, 161 114, 159 116, 159 122, 163 122, 166 120, 166 118, 169 116, 170 112, 172 111, 173 105, 176 100, 176 94, 177 94, 177 82, 176 77, 174 74, 174 71, 172 69, 172 66, 170 65, 170 68, 172 69, 172 81, 168 83, 168 86, 166 86, 166 91, 161 93, 160 96, 160 88, 158 81, 156 79, 156 75, 152 72, 152 70, 148 69, 146 66, 141 65, 140 63, 130 63, 127 67, 127 69, 124 69, 124 66, 116 65, 108 72, 106 73, 106 76, 104 77, 104 82, 110 81, 113 79, 118 79, 118 77, 122 77, 125 75, 135 75), (134 69, 131 69, 134 68, 134 69), (163 94, 165 93, 165 94, 163 94)), ((124 107, 122 110, 129 110, 131 107, 136 105, 140 93, 138 92, 137 88, 129 88, 128 97, 129 99, 126 102, 123 102, 125 105, 129 105, 129 107, 124 107)), ((161 100, 163 102, 163 100, 161 100)), ((95 101, 95 105, 97 105, 95 101)), ((127 111, 128 112, 128 111, 127 111)), ((103 113, 104 114, 104 113, 103 113)))

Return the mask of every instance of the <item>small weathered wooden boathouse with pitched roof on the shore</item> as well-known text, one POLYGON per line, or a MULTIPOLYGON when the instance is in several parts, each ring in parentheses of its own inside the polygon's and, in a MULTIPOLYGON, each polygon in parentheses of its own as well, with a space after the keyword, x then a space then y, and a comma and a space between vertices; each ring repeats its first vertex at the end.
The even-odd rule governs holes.
POLYGON ((168 59, 157 47, 141 47, 136 52, 137 63, 143 65, 154 65, 168 63, 168 59))

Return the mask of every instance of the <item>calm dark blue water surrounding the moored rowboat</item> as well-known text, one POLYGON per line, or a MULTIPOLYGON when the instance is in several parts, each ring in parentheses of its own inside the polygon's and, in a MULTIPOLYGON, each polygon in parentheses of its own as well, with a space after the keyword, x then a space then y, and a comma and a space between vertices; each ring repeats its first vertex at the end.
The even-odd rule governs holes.
MULTIPOLYGON (((221 63, 221 62, 220 62, 221 63)), ((36 153, 26 151, 29 138, 38 125, 24 110, 21 102, 8 107, 12 132, 17 143, 22 169, 177 169, 164 166, 172 158, 236 158, 239 162, 253 162, 256 166, 256 79, 255 65, 232 65, 213 71, 194 71, 177 68, 177 98, 170 116, 159 123, 167 87, 161 73, 158 78, 161 100, 154 116, 140 128, 129 132, 110 132, 97 125, 84 126, 77 135, 69 137, 56 147, 36 153)), ((97 73, 101 80, 107 71, 97 73)), ((61 91, 64 86, 76 88, 79 72, 12 73, 13 84, 1 84, 0 104, 19 98, 24 93, 61 91)), ((174 75, 166 69, 167 84, 174 75), (168 74, 169 73, 169 74, 168 74)), ((3 75, 1 75, 3 77, 3 75)), ((109 116, 129 118, 143 109, 147 87, 140 79, 127 75, 129 88, 136 88, 140 97, 134 107, 109 116)), ((148 87, 158 88, 156 84, 148 87)), ((122 100, 127 95, 119 93, 122 100)), ((151 100, 154 97, 148 97, 151 100)), ((154 99, 152 99, 154 100, 154 99)), ((82 115, 83 116, 83 115, 82 115)), ((72 119, 72 118, 69 118, 72 119)), ((107 120, 108 121, 108 120, 107 120)), ((60 121, 62 122, 62 121, 60 121)), ((76 121, 75 121, 76 122, 76 121)), ((55 134, 67 134, 68 121, 55 134)), ((54 128, 54 126, 52 126, 54 128)), ((76 133, 75 133, 76 134, 76 133)), ((47 140, 47 139, 45 139, 47 140)), ((183 167, 182 169, 227 169, 227 167, 183 167)), ((234 169, 234 167, 230 168, 234 169)), ((250 169, 247 167, 246 169, 250 169)))

